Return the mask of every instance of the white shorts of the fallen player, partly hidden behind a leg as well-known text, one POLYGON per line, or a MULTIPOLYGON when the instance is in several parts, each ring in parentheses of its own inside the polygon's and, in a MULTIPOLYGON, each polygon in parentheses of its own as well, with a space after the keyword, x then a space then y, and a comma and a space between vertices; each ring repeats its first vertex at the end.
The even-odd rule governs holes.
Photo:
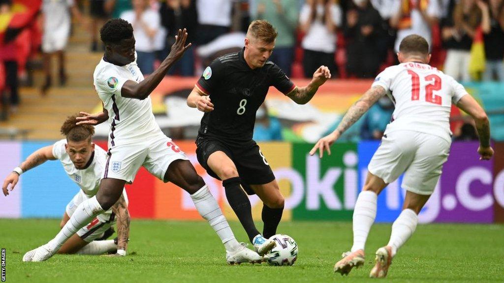
MULTIPOLYGON (((75 210, 77 209, 77 206, 79 206, 79 204, 81 204, 81 202, 86 199, 88 199, 86 194, 82 190, 79 190, 74 198, 72 198, 72 200, 67 204, 67 215, 69 217, 72 217, 75 210)), ((103 236, 103 233, 114 224, 115 215, 114 213, 112 213, 112 210, 109 209, 94 218, 88 225, 79 229, 79 231, 77 231, 77 235, 79 235, 82 240, 91 243, 92 241, 101 238, 103 236)))

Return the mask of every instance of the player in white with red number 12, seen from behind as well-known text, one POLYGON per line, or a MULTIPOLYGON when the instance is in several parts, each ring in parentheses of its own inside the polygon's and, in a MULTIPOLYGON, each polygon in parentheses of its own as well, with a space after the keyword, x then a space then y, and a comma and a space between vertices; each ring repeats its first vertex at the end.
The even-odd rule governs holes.
POLYGON ((428 64, 427 41, 419 35, 409 35, 401 41, 397 56, 400 64, 380 73, 371 88, 348 109, 336 130, 321 138, 310 151, 313 155, 318 149, 321 158, 324 151, 331 154, 330 146, 377 100, 388 95, 394 101, 392 122, 369 162, 367 179, 355 203, 353 246, 334 266, 334 271, 342 275, 364 264, 364 244, 376 217, 377 195, 405 173, 403 210, 392 225, 389 243, 376 251, 376 264, 369 274, 387 275, 397 250, 415 231, 417 215, 434 191, 448 158, 452 103, 474 118, 480 160, 489 160, 493 155, 485 111, 461 84, 428 64))

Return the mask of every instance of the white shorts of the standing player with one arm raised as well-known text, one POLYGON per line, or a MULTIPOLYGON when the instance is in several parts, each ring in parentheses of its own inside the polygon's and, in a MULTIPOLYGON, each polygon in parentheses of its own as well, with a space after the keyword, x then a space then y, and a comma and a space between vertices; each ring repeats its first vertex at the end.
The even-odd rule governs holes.
POLYGON ((140 166, 159 180, 164 180, 168 166, 175 160, 188 160, 164 134, 146 137, 137 143, 120 145, 115 143, 108 151, 103 178, 114 178, 133 183, 140 166))

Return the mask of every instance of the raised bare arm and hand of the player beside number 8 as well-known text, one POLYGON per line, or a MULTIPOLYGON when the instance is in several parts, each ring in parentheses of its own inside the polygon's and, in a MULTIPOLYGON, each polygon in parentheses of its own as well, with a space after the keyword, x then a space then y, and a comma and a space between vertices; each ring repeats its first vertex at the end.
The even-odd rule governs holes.
POLYGON ((146 99, 151 92, 159 85, 163 80, 168 69, 180 58, 187 48, 191 46, 191 43, 185 45, 185 40, 187 39, 187 32, 184 29, 178 30, 178 35, 175 36, 175 43, 171 46, 170 54, 161 62, 159 68, 157 68, 147 79, 140 83, 132 80, 126 81, 121 88, 121 96, 126 98, 135 99, 146 99))

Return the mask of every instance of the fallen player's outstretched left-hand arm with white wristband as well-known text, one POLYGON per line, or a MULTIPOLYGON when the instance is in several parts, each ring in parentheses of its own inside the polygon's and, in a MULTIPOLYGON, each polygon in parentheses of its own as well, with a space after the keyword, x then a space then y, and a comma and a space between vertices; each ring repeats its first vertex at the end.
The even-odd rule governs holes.
POLYGON ((34 153, 32 153, 28 158, 21 163, 21 165, 18 168, 15 168, 12 171, 9 176, 4 181, 4 184, 2 185, 2 191, 4 192, 4 195, 9 195, 9 191, 12 191, 16 184, 19 181, 19 175, 23 172, 26 172, 34 167, 39 166, 40 164, 46 162, 47 160, 55 160, 56 158, 52 154, 52 145, 43 147, 41 149, 36 150, 34 153), (21 171, 19 171, 21 169, 21 171), (11 184, 10 189, 8 189, 9 184, 11 184))

